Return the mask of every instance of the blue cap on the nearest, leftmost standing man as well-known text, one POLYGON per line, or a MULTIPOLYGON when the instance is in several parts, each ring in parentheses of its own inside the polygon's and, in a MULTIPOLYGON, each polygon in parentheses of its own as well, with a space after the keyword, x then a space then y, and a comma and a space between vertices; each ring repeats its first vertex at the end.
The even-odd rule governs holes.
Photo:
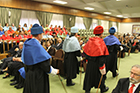
POLYGON ((37 35, 37 34, 41 34, 41 33, 44 33, 43 28, 41 26, 39 26, 39 24, 34 24, 33 27, 31 28, 31 34, 37 35))

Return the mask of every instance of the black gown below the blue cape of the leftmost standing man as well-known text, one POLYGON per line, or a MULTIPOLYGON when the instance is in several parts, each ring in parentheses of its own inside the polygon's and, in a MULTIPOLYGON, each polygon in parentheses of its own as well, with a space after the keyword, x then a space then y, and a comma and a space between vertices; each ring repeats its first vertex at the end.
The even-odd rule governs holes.
POLYGON ((50 61, 49 59, 35 65, 26 65, 26 78, 23 93, 50 93, 49 76, 50 61))

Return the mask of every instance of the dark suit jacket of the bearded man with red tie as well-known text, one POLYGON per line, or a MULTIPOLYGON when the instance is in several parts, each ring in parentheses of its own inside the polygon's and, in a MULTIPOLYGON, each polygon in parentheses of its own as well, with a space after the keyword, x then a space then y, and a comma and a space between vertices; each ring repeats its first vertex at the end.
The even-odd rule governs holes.
MULTIPOLYGON (((128 93, 129 88, 129 78, 122 78, 119 80, 116 88, 112 91, 112 93, 128 93)), ((139 93, 140 85, 137 87, 134 93, 139 93)))

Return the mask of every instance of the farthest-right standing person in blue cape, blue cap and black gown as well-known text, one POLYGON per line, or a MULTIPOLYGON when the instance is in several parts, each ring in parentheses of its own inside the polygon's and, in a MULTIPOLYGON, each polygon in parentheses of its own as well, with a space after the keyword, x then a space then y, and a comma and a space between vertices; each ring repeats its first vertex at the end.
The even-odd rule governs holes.
POLYGON ((111 27, 109 29, 110 35, 104 38, 104 42, 108 48, 109 56, 107 57, 106 61, 106 73, 108 71, 112 72, 113 77, 116 77, 118 73, 117 70, 117 53, 122 48, 119 39, 114 36, 116 29, 111 27))

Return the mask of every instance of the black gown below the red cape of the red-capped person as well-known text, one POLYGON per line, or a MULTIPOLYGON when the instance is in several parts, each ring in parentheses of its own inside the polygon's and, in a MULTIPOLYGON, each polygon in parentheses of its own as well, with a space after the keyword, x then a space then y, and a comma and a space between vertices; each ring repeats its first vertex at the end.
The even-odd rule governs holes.
MULTIPOLYGON (((102 67, 105 63, 106 56, 98 56, 98 57, 90 57, 86 55, 88 60, 86 74, 84 78, 84 86, 83 89, 86 91, 90 91, 92 87, 98 88, 98 84, 101 78, 101 73, 99 71, 99 67, 102 67)), ((105 80, 102 79, 100 88, 105 88, 105 80)))

